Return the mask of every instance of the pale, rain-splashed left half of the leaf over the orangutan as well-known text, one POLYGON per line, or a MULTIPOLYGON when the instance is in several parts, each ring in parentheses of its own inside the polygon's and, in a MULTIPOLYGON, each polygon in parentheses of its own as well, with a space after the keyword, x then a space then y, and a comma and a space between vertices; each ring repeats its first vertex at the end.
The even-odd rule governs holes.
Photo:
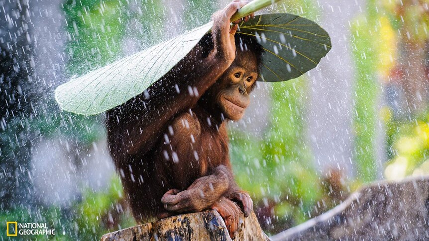
POLYGON ((60 108, 95 115, 125 103, 170 71, 212 25, 209 22, 58 86, 55 98, 60 108))

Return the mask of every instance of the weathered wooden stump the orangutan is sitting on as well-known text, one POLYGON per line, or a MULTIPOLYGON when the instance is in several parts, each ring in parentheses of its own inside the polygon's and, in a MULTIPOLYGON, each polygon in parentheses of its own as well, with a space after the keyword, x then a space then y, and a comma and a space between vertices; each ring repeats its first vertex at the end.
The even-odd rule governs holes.
MULTIPOLYGON (((255 214, 241 218, 237 241, 263 241, 268 237, 259 226, 255 214)), ((200 213, 182 214, 152 223, 137 225, 131 228, 106 234, 102 241, 163 241, 163 240, 211 240, 230 241, 225 223, 219 213, 208 210, 200 213)))

